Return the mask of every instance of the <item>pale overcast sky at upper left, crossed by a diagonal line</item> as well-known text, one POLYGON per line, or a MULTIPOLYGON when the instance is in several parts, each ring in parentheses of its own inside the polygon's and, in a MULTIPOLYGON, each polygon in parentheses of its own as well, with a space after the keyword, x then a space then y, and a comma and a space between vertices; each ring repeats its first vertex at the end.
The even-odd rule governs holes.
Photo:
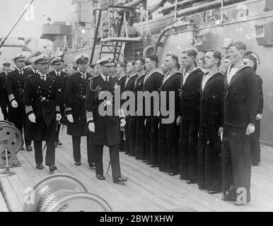
MULTIPOLYGON (((5 37, 31 0, 0 0, 0 37, 5 37)), ((65 21, 74 12, 71 0, 34 0, 34 20, 23 17, 11 33, 11 37, 37 37, 42 35, 42 25, 47 18, 52 21, 65 21)))

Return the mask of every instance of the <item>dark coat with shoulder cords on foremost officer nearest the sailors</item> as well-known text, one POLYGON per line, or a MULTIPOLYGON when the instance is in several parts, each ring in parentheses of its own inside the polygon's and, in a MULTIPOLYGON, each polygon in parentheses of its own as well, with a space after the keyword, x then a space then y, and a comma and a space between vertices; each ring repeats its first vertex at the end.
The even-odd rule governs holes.
MULTIPOLYGON (((95 133, 91 133, 91 140, 94 145, 117 145, 120 143, 120 118, 124 118, 124 112, 120 106, 115 107, 115 88, 119 81, 108 77, 108 83, 102 76, 91 79, 86 93, 86 118, 88 124, 94 122, 95 133), (112 100, 103 99, 103 91, 112 93, 112 100), (108 106, 110 111, 106 116, 102 116, 99 107, 108 106), (111 116, 112 114, 112 116, 111 116)), ((120 94, 117 94, 120 100, 120 94)), ((105 111, 106 112, 106 111, 105 111)))

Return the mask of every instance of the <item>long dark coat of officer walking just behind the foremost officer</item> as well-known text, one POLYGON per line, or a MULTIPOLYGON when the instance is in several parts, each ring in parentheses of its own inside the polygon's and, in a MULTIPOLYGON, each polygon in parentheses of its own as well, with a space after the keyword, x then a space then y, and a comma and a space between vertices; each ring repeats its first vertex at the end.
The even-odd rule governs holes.
POLYGON ((70 76, 65 92, 65 112, 72 114, 74 123, 68 123, 67 134, 71 136, 88 136, 86 123, 86 88, 92 76, 86 73, 86 80, 80 72, 70 76))

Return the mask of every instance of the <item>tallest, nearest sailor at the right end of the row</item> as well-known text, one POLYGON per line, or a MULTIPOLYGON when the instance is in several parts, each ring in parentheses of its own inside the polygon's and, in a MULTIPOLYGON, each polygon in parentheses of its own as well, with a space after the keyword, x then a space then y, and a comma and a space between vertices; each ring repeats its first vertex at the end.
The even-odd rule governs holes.
POLYGON ((257 78, 252 67, 243 64, 243 42, 229 46, 231 65, 225 78, 222 142, 223 200, 235 205, 250 202, 250 135, 257 117, 257 78))

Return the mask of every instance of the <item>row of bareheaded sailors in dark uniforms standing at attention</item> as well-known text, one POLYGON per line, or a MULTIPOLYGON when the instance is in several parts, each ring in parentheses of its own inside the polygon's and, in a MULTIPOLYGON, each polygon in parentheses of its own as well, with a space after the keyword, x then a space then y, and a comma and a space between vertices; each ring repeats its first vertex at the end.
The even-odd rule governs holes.
POLYGON ((157 70, 156 55, 145 62, 130 61, 127 76, 120 77, 123 91, 175 91, 175 121, 163 124, 161 112, 155 117, 153 109, 151 117, 129 115, 120 150, 170 176, 180 174, 180 179, 197 183, 209 194, 223 191, 223 200, 248 203, 250 167, 260 162, 262 81, 252 69, 255 59, 244 59, 245 49, 243 42, 231 44, 226 76, 219 71, 218 51, 207 52, 206 73, 197 68, 194 50, 182 52, 182 74, 172 54, 165 57, 165 76, 157 70))

